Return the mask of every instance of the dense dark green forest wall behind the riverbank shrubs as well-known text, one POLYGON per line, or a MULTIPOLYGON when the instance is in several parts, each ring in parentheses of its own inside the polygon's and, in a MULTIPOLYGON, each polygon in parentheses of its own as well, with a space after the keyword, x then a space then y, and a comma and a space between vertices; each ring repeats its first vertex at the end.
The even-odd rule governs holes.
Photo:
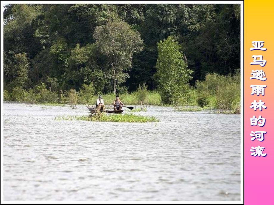
POLYGON ((54 92, 158 89, 157 43, 180 45, 190 85, 240 67, 239 4, 9 4, 4 90, 44 83, 54 92), (111 45, 111 46, 110 46, 111 45))

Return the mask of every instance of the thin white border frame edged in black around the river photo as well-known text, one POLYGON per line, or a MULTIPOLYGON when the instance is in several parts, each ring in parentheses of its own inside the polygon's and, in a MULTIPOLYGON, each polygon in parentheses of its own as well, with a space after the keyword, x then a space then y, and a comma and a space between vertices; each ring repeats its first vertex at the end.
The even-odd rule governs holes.
POLYGON ((1 204, 243 204, 244 202, 244 1, 1 1, 1 204), (241 5, 241 139, 240 139, 240 201, 4 201, 3 178, 3 52, 5 4, 240 4, 241 5))

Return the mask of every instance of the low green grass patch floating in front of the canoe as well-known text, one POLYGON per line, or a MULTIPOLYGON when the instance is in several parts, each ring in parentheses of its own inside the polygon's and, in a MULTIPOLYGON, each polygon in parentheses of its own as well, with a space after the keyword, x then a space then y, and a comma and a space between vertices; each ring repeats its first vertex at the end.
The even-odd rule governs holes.
POLYGON ((159 122, 154 116, 140 116, 133 114, 110 114, 102 113, 93 116, 57 116, 54 120, 84 120, 93 122, 159 122))

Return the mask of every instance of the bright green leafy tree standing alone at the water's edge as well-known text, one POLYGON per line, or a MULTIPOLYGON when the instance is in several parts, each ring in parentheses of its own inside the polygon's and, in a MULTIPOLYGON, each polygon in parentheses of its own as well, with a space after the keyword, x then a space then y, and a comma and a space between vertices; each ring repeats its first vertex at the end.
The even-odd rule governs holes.
POLYGON ((180 52, 180 45, 172 36, 158 44, 157 72, 158 90, 164 103, 176 103, 189 90, 192 71, 187 69, 180 52))

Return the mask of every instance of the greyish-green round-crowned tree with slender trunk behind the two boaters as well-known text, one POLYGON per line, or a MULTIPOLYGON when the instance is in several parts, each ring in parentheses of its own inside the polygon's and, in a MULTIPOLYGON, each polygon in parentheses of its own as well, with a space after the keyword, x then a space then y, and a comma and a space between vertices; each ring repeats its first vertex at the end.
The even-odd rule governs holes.
POLYGON ((142 50, 143 40, 137 31, 127 23, 113 21, 104 26, 97 26, 94 39, 102 54, 104 54, 112 68, 113 87, 123 83, 128 77, 127 69, 131 67, 133 53, 142 50))

